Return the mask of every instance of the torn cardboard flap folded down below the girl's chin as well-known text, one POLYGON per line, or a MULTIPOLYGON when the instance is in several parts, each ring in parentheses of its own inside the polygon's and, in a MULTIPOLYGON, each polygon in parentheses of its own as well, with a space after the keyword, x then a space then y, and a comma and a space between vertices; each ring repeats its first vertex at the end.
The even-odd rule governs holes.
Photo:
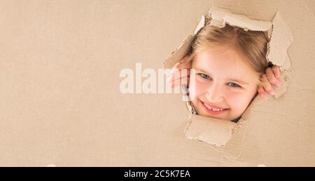
POLYGON ((223 119, 193 114, 186 127, 186 138, 200 140, 218 147, 224 146, 232 137, 237 123, 223 119))

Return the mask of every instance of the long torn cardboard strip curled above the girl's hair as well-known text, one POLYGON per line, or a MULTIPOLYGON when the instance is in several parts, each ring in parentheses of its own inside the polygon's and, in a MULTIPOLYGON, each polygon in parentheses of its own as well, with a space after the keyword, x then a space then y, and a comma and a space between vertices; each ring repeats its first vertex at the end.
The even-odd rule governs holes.
POLYGON ((245 30, 252 31, 268 31, 272 27, 272 22, 263 20, 252 20, 244 15, 232 14, 229 11, 211 8, 209 10, 209 15, 211 16, 211 25, 216 27, 225 27, 225 24, 241 27, 245 30))

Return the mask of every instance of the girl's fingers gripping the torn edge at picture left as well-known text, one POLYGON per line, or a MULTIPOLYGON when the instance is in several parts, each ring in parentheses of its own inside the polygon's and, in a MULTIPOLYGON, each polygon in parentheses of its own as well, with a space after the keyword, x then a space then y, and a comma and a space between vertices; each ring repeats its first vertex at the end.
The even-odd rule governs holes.
POLYGON ((171 88, 186 84, 189 86, 189 76, 191 68, 190 55, 186 55, 181 61, 172 67, 172 74, 167 79, 171 88))

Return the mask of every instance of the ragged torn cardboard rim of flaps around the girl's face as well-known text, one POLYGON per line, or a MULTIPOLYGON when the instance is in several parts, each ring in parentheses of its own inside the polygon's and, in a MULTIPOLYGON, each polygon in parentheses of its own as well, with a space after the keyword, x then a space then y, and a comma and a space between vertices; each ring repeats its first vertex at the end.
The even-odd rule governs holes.
MULTIPOLYGON (((190 53, 191 44, 193 43, 196 34, 200 32, 202 27, 204 27, 208 21, 210 21, 211 25, 216 27, 225 27, 228 23, 228 25, 241 27, 245 31, 265 32, 269 38, 266 54, 267 61, 272 62, 273 65, 278 65, 281 70, 281 87, 275 88, 275 95, 268 95, 266 100, 261 99, 259 96, 255 96, 245 112, 239 117, 237 123, 197 115, 189 98, 186 98, 188 112, 188 123, 184 130, 186 138, 207 142, 216 147, 223 147, 229 140, 233 139, 237 131, 239 131, 239 141, 244 142, 246 139, 246 126, 248 121, 251 121, 249 120, 250 116, 248 116, 252 113, 251 107, 254 107, 255 104, 263 104, 265 101, 273 101, 286 92, 286 86, 288 85, 288 81, 290 81, 290 58, 287 50, 290 43, 293 42, 293 35, 290 32, 290 28, 281 18, 279 12, 276 13, 272 22, 268 22, 252 20, 244 15, 233 14, 230 11, 223 9, 211 8, 207 16, 202 16, 194 34, 186 36, 186 38, 183 39, 181 46, 176 48, 175 51, 172 52, 172 55, 163 62, 164 69, 172 68, 181 60, 181 58, 190 53)), ((186 96, 188 97, 188 95, 186 96)), ((239 152, 239 154, 241 154, 241 152, 239 152)))

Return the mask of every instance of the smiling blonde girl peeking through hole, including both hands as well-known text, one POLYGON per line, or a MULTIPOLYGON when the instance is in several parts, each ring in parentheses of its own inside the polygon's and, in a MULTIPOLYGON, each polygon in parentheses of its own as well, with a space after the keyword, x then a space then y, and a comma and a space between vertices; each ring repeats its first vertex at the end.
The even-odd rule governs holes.
POLYGON ((169 84, 193 85, 189 98, 197 114, 238 121, 258 93, 274 95, 272 84, 281 85, 279 67, 268 67, 267 41, 264 32, 208 22, 191 53, 174 65, 169 84))

